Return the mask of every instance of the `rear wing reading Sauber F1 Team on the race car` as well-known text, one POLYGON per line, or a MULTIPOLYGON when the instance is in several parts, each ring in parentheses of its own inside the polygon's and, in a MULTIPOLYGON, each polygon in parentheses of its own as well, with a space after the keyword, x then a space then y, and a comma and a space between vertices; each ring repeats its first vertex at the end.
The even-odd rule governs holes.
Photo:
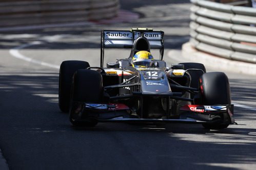
POLYGON ((153 31, 152 29, 131 29, 124 30, 102 30, 101 32, 101 67, 104 62, 105 48, 132 48, 133 42, 138 37, 148 39, 150 48, 160 49, 160 58, 163 60, 164 55, 164 32, 153 31))

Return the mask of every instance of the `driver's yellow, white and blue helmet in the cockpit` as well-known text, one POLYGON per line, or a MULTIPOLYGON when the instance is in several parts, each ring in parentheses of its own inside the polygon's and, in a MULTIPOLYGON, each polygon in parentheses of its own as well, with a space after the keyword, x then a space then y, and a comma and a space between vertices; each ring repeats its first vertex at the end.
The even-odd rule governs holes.
POLYGON ((139 51, 132 58, 133 67, 151 67, 153 56, 147 51, 139 51))

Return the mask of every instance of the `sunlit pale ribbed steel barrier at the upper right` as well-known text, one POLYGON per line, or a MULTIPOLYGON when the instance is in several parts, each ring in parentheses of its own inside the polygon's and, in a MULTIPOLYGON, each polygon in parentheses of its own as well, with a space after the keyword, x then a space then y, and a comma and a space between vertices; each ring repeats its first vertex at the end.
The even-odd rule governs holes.
POLYGON ((227 59, 256 63, 255 8, 190 1, 192 46, 227 59))

